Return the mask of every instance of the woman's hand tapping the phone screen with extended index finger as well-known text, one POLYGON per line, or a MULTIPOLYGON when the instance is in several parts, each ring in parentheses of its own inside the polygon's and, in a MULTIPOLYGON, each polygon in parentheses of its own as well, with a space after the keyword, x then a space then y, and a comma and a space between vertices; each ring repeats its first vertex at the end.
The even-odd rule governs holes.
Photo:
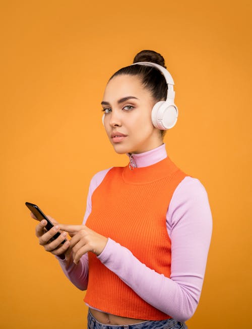
POLYGON ((69 259, 72 251, 75 264, 77 264, 80 258, 87 252, 92 252, 99 256, 105 248, 108 240, 107 237, 96 233, 86 225, 59 224, 59 228, 69 232, 69 234, 72 236, 70 247, 65 256, 67 259, 69 259))

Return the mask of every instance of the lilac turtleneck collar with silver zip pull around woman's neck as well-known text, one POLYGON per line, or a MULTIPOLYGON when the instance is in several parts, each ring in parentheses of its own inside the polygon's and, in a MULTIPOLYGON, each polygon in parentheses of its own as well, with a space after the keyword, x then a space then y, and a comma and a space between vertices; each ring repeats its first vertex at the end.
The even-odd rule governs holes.
POLYGON ((129 156, 131 169, 148 167, 167 157, 165 143, 143 153, 126 153, 129 156))

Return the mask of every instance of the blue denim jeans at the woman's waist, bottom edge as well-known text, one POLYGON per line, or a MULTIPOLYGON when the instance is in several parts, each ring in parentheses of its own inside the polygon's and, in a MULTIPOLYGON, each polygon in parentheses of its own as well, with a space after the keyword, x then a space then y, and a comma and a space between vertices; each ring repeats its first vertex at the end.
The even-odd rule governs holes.
POLYGON ((187 329, 187 326, 184 322, 179 322, 174 318, 167 320, 158 320, 158 321, 143 321, 136 324, 127 324, 127 325, 107 325, 98 322, 90 310, 88 310, 88 329, 187 329))

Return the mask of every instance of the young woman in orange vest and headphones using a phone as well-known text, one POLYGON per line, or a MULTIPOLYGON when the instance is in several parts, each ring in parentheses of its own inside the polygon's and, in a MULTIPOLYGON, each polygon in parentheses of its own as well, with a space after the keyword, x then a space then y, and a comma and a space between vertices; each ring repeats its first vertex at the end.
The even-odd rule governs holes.
MULTIPOLYGON (((108 139, 129 163, 94 175, 82 225, 50 217, 54 228, 45 232, 45 221, 36 227, 44 249, 87 290, 88 328, 186 328, 203 285, 212 234, 207 192, 166 153, 167 120, 157 122, 157 107, 167 99, 167 83, 169 104, 174 93, 163 57, 143 50, 138 62, 162 69, 147 63, 119 69, 101 102, 108 139), (62 245, 66 232, 72 238, 62 245)), ((177 115, 176 106, 168 112, 177 115)))

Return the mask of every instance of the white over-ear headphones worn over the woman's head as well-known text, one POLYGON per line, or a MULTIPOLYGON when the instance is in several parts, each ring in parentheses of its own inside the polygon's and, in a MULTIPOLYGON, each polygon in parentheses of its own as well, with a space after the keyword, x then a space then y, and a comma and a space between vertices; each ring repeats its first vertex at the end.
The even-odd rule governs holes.
MULTIPOLYGON (((171 74, 167 71, 163 66, 152 63, 152 62, 138 62, 131 65, 146 65, 146 66, 154 66, 159 71, 161 71, 165 77, 167 83, 167 98, 166 101, 157 102, 151 112, 151 120, 153 126, 160 130, 167 130, 175 126, 177 122, 178 109, 174 104, 175 92, 173 91, 174 81, 171 74)), ((130 66, 131 66, 130 65, 130 66)), ((102 123, 104 125, 104 117, 102 116, 102 123)))

